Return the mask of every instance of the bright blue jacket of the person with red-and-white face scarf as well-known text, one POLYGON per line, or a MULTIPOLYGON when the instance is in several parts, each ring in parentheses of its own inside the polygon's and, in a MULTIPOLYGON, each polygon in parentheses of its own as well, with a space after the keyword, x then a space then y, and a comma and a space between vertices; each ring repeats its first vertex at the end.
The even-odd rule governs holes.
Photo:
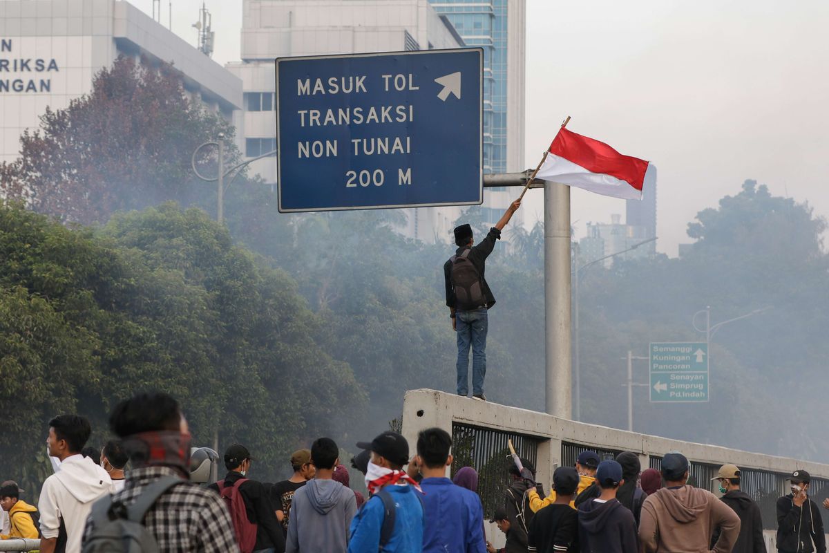
MULTIPOLYGON (((423 507, 411 486, 386 486, 395 499, 395 531, 382 553, 422 553, 423 507)), ((351 520, 351 541, 348 553, 377 553, 385 510, 380 497, 369 497, 356 517, 351 520)))

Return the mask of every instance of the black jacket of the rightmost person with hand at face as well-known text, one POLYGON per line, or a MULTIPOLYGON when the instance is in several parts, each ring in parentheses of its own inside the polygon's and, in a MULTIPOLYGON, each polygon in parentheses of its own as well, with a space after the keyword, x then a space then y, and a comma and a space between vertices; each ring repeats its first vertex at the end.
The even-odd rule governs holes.
POLYGON ((817 553, 826 553, 826 535, 823 533, 820 509, 811 499, 803 503, 802 507, 797 507, 792 499, 791 493, 778 499, 778 551, 780 553, 812 553, 816 551, 812 547, 812 540, 814 540, 817 553))

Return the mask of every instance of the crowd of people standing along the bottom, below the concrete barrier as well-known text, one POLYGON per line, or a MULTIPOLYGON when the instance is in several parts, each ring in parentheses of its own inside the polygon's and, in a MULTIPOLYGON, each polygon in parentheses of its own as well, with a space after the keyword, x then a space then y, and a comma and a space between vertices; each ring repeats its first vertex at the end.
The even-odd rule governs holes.
MULTIPOLYGON (((225 450, 227 473, 191 481, 190 433, 170 395, 139 394, 115 406, 116 439, 85 450, 90 424, 78 415, 49 421, 46 444, 56 472, 36 505, 17 483, 0 484, 2 539, 40 538, 41 553, 210 551, 240 553, 496 553, 485 537, 478 473, 453 465, 451 436, 419 433, 410 457, 405 438, 384 432, 356 444, 351 465, 368 497, 349 488, 332 439, 295 452, 293 476, 250 478, 255 462, 242 444, 225 450)), ((740 470, 720 468, 721 497, 688 485, 679 453, 641 472, 637 454, 601 460, 584 451, 555 469, 545 493, 531 463, 510 466, 511 482, 490 522, 506 536, 498 553, 765 552, 759 507, 740 490, 740 470), (529 478, 528 475, 533 475, 529 478)), ((196 470, 196 469, 194 469, 196 470)), ((201 468, 198 469, 201 471, 201 468)), ((826 553, 822 514, 809 497, 810 475, 797 470, 777 502, 780 553, 826 553)), ((822 507, 829 509, 829 500, 822 507)))

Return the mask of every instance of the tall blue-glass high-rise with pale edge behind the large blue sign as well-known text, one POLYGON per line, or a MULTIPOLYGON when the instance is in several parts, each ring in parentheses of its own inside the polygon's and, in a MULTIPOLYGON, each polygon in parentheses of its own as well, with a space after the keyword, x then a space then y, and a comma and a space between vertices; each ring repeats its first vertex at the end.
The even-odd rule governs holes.
MULTIPOLYGON (((429 0, 467 46, 484 56, 484 172, 524 165, 525 0, 429 0)), ((487 203, 500 207, 501 201, 487 203)), ((508 202, 507 202, 508 203, 508 202)), ((504 204, 506 206, 506 204, 504 204)))

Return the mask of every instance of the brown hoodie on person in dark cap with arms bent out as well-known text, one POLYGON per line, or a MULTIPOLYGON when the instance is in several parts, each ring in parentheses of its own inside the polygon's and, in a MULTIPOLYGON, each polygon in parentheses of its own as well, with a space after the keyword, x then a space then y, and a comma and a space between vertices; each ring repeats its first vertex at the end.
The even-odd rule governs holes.
POLYGON ((642 504, 639 539, 645 553, 729 553, 739 536, 739 517, 731 507, 701 488, 662 488, 642 504), (709 548, 710 536, 720 539, 709 548))

